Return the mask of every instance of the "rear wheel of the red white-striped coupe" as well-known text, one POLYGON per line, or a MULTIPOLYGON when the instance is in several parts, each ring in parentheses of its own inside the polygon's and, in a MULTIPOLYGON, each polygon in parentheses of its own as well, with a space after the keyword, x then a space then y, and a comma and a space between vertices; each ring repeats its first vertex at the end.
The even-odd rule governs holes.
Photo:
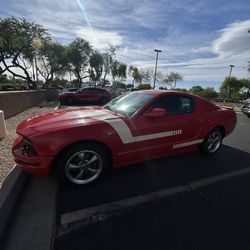
POLYGON ((215 154, 222 143, 223 131, 219 128, 213 129, 201 144, 201 151, 206 155, 215 154))

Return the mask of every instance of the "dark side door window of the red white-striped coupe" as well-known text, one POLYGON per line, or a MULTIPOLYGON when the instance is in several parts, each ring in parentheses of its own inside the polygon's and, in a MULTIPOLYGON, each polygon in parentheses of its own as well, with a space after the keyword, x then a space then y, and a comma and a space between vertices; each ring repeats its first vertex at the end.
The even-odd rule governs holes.
POLYGON ((152 107, 166 109, 169 115, 191 113, 195 108, 193 98, 179 95, 161 97, 152 107))

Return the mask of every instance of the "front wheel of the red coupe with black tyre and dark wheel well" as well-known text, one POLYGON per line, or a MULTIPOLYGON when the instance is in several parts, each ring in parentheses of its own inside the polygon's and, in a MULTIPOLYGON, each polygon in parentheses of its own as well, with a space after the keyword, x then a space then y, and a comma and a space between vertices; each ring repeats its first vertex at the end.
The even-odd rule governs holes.
POLYGON ((56 164, 59 181, 86 185, 101 179, 108 166, 106 150, 96 144, 77 144, 66 150, 56 164))

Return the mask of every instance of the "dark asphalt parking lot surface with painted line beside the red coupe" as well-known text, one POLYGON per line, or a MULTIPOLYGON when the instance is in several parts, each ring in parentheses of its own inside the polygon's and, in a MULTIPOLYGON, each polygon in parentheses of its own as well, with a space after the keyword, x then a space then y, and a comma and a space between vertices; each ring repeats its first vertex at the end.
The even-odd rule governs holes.
POLYGON ((250 119, 212 157, 168 157, 58 187, 54 249, 250 249, 250 119))

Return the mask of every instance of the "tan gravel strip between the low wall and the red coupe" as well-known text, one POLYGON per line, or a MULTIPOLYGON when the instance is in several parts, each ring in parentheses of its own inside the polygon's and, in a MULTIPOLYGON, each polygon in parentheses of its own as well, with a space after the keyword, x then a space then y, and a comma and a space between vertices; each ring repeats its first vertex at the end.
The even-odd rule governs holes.
POLYGON ((16 126, 23 120, 41 113, 52 111, 56 103, 44 104, 42 107, 33 107, 6 120, 7 137, 0 140, 0 186, 14 166, 11 153, 12 143, 16 137, 16 126))

